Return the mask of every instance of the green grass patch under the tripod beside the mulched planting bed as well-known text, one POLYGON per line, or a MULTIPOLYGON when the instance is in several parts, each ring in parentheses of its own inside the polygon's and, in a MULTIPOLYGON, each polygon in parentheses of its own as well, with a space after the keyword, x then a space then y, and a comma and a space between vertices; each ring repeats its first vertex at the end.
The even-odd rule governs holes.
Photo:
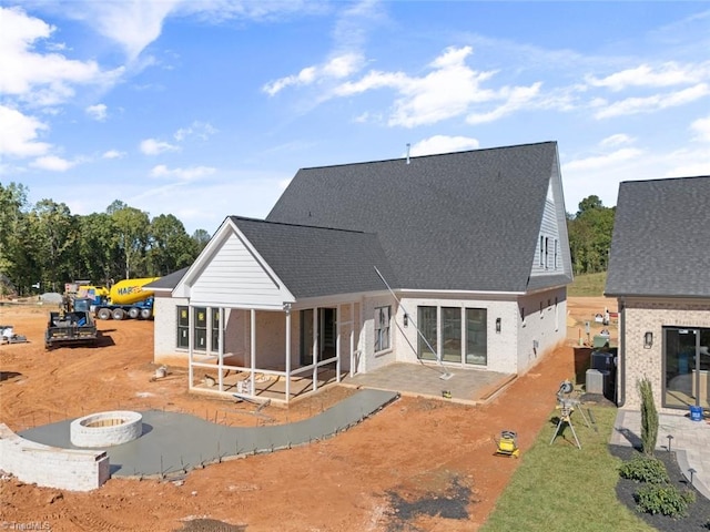
POLYGON ((587 428, 579 412, 572 415, 581 450, 568 427, 550 444, 558 411, 550 413, 555 422, 546 424, 530 450, 521 454, 523 463, 481 532, 653 531, 617 499, 621 460, 607 448, 617 409, 592 407, 592 412, 598 432, 587 428))

